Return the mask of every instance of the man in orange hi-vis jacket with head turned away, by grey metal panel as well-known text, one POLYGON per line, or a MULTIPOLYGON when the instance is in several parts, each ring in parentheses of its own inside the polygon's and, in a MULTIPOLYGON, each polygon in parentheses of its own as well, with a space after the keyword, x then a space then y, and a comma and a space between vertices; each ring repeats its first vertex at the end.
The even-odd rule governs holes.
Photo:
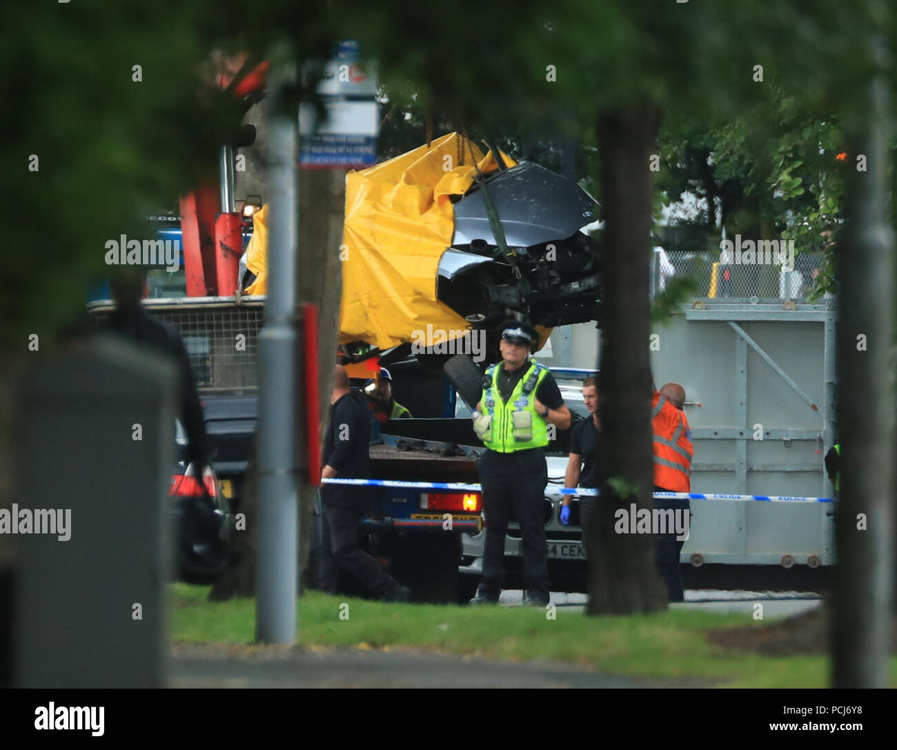
MULTIPOLYGON (((688 493, 692 490, 692 456, 694 449, 689 440, 691 430, 685 416, 685 389, 678 383, 666 383, 651 397, 651 432, 654 440, 654 491, 688 493)), ((662 510, 684 510, 691 513, 692 504, 686 500, 658 500, 656 507, 662 510)), ((684 539, 677 539, 675 532, 658 535, 658 571, 666 581, 671 602, 684 600, 682 574, 679 571, 679 553, 684 539)))

